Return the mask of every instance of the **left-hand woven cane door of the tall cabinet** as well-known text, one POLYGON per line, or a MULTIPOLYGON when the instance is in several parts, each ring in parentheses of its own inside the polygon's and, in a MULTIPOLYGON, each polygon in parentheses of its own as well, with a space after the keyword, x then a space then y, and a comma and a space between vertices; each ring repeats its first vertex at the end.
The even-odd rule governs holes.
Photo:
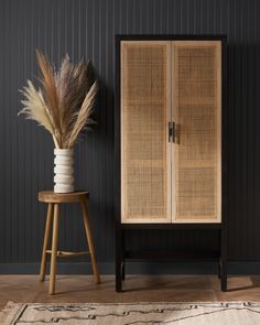
POLYGON ((171 43, 122 41, 121 221, 171 223, 171 43))

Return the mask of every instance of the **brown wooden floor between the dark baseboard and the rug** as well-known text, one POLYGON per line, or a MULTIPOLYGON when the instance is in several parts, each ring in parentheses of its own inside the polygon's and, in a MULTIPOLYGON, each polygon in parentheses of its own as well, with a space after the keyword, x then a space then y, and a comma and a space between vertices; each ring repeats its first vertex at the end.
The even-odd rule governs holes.
POLYGON ((138 301, 260 301, 260 275, 230 277, 228 292, 219 290, 216 275, 128 275, 126 292, 115 291, 115 277, 59 275, 56 294, 47 294, 48 281, 36 275, 0 275, 0 308, 14 302, 138 302, 138 301))

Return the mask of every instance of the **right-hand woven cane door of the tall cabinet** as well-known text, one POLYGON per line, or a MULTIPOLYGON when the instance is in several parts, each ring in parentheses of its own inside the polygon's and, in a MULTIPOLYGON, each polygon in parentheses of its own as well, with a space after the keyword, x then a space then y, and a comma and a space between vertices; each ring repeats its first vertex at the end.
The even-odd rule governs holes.
POLYGON ((221 43, 176 41, 172 46, 173 221, 219 223, 221 43))

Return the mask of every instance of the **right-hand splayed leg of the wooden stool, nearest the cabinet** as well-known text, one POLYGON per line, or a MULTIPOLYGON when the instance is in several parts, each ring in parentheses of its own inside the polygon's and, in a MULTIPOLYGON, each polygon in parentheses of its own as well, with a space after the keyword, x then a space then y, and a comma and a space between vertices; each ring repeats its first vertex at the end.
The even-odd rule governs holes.
POLYGON ((94 242, 93 242, 90 224, 89 224, 89 219, 88 219, 88 208, 87 208, 87 201, 86 199, 84 199, 82 202, 82 208, 83 208, 83 219, 84 219, 84 226, 85 226, 86 236, 87 236, 88 249, 89 249, 91 264, 93 264, 93 272, 96 277, 96 282, 100 283, 101 280, 99 277, 98 267, 97 267, 97 262, 96 262, 96 254, 95 254, 95 248, 94 248, 94 242))

